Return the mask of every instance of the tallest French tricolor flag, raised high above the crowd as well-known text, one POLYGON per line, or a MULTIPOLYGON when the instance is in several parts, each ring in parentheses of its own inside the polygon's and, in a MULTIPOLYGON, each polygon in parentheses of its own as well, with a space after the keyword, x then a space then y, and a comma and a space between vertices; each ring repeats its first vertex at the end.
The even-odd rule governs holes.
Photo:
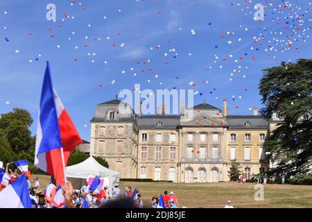
POLYGON ((49 62, 46 62, 37 126, 35 166, 50 173, 58 185, 64 185, 69 155, 82 142, 60 97, 53 89, 49 62))

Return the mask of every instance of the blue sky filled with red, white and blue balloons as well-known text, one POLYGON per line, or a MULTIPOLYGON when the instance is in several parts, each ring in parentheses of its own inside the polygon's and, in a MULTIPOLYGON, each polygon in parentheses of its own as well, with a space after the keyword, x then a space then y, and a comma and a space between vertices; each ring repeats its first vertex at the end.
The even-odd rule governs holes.
POLYGON ((222 108, 227 99, 230 114, 252 114, 250 108, 261 108, 262 69, 311 58, 306 0, 71 3, 0 1, 0 112, 29 110, 33 134, 46 60, 65 108, 89 140, 96 105, 135 83, 193 89, 195 104, 205 99, 222 108), (56 22, 46 20, 48 3, 56 6, 56 22), (263 22, 253 19, 256 3, 266 6, 263 22))

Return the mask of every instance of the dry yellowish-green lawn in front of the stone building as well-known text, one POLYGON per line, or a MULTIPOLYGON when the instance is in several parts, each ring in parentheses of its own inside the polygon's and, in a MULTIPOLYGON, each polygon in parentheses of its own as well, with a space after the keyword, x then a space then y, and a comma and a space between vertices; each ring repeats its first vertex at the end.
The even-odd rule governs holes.
MULTIPOLYGON (((46 187, 50 177, 38 176, 42 187, 46 187)), ((205 184, 177 184, 170 182, 121 182, 120 188, 137 188, 144 205, 148 205, 154 195, 164 190, 174 191, 179 207, 224 207, 232 200, 236 208, 246 207, 312 207, 312 186, 266 185, 264 200, 254 200, 254 184, 219 182, 205 184)))

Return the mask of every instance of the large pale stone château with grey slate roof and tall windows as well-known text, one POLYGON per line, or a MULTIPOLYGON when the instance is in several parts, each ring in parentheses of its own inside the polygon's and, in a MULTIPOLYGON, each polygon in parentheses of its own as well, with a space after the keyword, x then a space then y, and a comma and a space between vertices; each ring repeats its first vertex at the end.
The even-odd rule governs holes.
POLYGON ((167 115, 163 105, 162 113, 143 115, 117 99, 98 104, 90 155, 105 158, 121 178, 228 181, 234 159, 248 177, 267 169, 262 144, 270 123, 256 108, 254 115, 227 115, 223 101, 223 111, 205 102, 181 110, 167 115))

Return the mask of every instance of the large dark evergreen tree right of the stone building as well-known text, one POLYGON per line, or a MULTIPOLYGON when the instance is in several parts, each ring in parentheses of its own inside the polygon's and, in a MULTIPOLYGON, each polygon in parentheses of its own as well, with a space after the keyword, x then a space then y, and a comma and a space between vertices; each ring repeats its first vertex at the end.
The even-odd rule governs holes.
POLYGON ((312 165, 312 60, 281 62, 264 69, 259 83, 266 119, 280 119, 263 144, 276 164, 270 172, 286 177, 311 175, 312 165))

